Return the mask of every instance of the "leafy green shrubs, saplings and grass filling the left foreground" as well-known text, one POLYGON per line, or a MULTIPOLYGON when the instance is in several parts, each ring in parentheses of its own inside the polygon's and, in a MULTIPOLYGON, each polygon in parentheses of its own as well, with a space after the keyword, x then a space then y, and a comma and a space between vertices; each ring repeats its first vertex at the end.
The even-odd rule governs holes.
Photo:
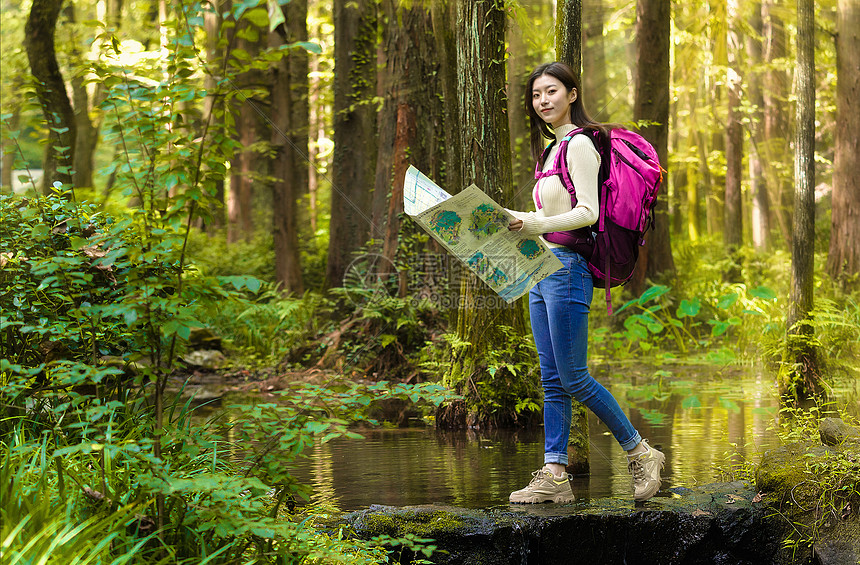
MULTIPOLYGON (((376 563, 389 559, 383 542, 432 552, 422 540, 368 543, 315 527, 296 510, 307 489, 289 463, 314 442, 352 435, 371 399, 438 404, 440 387, 292 386, 276 403, 232 408, 228 424, 167 401, 179 354, 211 313, 233 316, 244 346, 266 343, 272 355, 297 339, 272 336, 299 335, 312 312, 299 312, 306 301, 276 300, 259 278, 189 264, 191 226, 211 220, 237 148, 232 113, 201 115, 204 97, 244 100, 254 92, 234 88, 237 73, 313 48, 249 60, 234 52, 207 92, 195 43, 201 9, 183 5, 164 22, 166 56, 137 57, 133 68, 127 45, 97 38, 105 51, 89 70, 104 88, 104 140, 118 150, 103 173, 116 176, 127 212, 99 212, 69 186, 0 197, 3 554, 21 563, 376 563), (254 333, 270 316, 278 324, 254 333), (228 449, 234 441, 247 448, 228 449)), ((260 2, 231 9, 250 24, 246 36, 267 31, 260 2)))

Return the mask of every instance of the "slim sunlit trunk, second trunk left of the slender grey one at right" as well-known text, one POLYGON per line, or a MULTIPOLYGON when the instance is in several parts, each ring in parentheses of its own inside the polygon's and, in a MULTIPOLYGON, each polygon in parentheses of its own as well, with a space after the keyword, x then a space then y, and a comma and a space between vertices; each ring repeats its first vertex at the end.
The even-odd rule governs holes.
POLYGON ((723 243, 731 260, 731 266, 725 273, 725 280, 740 282, 741 269, 738 264, 741 245, 743 245, 743 195, 741 194, 741 178, 743 177, 743 143, 744 134, 741 127, 741 68, 740 35, 737 26, 740 25, 740 5, 738 0, 728 1, 728 37, 727 54, 728 67, 726 71, 726 90, 728 92, 728 115, 726 118, 726 190, 723 207, 723 243))

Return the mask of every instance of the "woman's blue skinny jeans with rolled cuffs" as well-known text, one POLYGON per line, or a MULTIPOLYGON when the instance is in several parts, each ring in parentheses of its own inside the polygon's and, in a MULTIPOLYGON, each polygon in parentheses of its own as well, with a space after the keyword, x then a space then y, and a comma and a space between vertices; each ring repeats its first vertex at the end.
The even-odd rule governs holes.
POLYGON ((564 266, 531 289, 529 312, 544 394, 544 463, 567 465, 571 397, 609 427, 622 449, 633 449, 642 437, 615 397, 588 372, 588 312, 593 294, 588 263, 569 249, 552 251, 564 266))

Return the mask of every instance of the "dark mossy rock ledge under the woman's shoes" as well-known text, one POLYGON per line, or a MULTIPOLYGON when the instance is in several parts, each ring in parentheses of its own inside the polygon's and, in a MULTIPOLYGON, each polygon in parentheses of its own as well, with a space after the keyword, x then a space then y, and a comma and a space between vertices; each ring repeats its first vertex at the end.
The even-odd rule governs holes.
POLYGON ((744 483, 718 483, 639 505, 599 499, 487 510, 374 506, 346 519, 364 538, 433 539, 438 550, 430 559, 439 564, 804 563, 780 560, 787 524, 752 502, 755 494, 744 483))

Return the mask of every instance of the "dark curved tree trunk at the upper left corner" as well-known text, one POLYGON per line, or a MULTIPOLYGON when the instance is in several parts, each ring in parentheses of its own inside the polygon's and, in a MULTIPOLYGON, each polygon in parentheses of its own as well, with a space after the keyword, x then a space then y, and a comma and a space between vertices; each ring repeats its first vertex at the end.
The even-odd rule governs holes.
POLYGON ((42 190, 56 182, 72 184, 77 126, 66 85, 57 64, 54 31, 63 0, 33 0, 24 26, 24 48, 36 79, 36 96, 49 129, 42 190), (59 149, 58 149, 59 148, 59 149))

